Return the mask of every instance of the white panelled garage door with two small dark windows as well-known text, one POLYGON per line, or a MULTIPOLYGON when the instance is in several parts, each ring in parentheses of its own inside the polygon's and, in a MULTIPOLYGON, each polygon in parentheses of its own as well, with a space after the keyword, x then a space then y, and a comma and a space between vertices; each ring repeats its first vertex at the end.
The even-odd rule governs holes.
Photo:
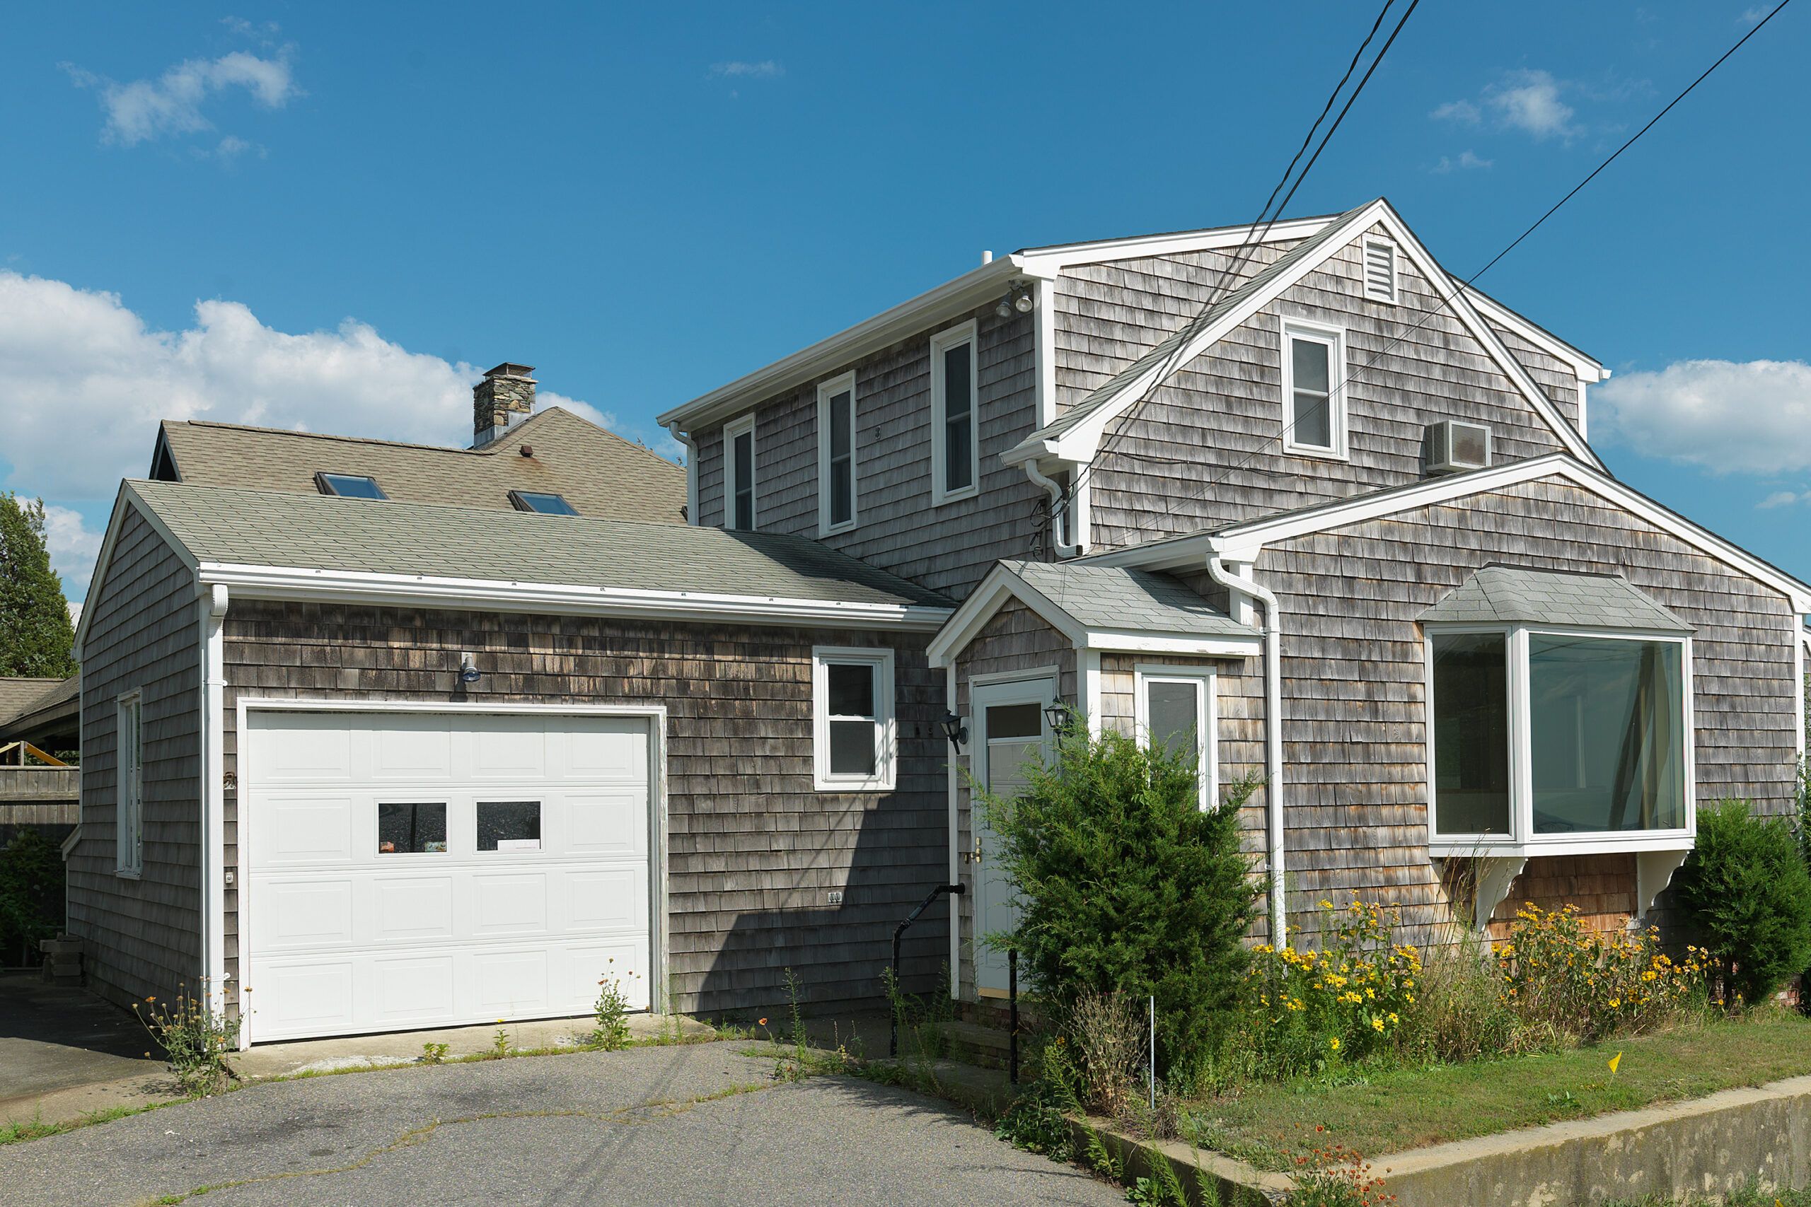
POLYGON ((589 1013, 607 968, 645 1010, 648 724, 250 711, 252 1037, 589 1013))

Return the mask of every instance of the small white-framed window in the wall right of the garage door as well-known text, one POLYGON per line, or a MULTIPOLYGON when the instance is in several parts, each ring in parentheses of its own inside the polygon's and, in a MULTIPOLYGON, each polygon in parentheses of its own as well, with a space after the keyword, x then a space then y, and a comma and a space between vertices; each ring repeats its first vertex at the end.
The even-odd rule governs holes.
POLYGON ((819 791, 893 791, 891 650, 811 650, 811 744, 819 791))

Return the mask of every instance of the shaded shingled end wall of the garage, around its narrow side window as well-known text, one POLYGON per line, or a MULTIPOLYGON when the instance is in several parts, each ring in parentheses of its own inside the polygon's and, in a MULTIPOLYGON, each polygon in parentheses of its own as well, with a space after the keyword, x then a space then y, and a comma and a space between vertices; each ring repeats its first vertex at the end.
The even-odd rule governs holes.
POLYGON ((201 641, 194 574, 136 512, 89 597, 81 650, 81 840, 69 860, 69 927, 116 1001, 201 975, 201 641), (143 693, 145 872, 114 874, 116 700, 143 693))

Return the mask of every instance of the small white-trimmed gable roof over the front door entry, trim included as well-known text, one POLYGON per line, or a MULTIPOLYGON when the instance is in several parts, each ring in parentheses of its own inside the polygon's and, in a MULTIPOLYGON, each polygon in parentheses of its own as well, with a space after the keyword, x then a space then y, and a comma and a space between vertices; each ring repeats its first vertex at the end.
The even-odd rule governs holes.
POLYGON ((931 666, 949 666, 982 626, 1018 599, 1078 650, 1244 655, 1260 635, 1188 586, 1154 570, 1081 561, 998 561, 931 639, 931 666))

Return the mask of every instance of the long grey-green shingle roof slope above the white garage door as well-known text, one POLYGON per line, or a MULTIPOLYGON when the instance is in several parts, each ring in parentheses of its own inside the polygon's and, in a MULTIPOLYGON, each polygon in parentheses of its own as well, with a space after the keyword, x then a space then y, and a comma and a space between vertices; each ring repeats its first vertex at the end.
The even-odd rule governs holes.
POLYGON ((954 606, 773 532, 130 481, 196 561, 427 577, 954 606))

